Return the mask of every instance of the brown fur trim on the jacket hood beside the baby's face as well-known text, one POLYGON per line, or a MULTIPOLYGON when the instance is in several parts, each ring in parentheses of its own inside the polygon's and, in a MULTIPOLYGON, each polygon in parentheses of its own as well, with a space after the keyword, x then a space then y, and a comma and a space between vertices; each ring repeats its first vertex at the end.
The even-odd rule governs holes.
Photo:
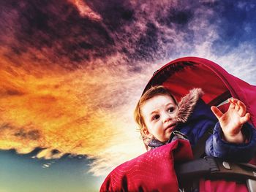
POLYGON ((176 117, 177 122, 187 122, 187 119, 195 108, 195 104, 197 104, 197 101, 201 96, 203 96, 202 89, 193 88, 186 96, 181 98, 181 101, 178 103, 178 114, 176 117))

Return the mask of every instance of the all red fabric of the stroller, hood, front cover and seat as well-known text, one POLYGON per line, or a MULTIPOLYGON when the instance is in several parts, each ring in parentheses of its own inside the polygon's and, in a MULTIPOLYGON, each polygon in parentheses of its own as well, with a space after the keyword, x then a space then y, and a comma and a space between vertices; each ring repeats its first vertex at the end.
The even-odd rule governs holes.
MULTIPOLYGON (((227 73, 221 66, 204 58, 178 58, 154 73, 146 85, 164 85, 179 100, 192 88, 202 88, 203 100, 218 105, 230 96, 246 104, 256 126, 256 87, 227 73)), ((167 145, 124 162, 113 169, 100 191, 178 191, 174 162, 192 160, 187 139, 176 139, 167 145)), ((247 191, 244 183, 232 180, 200 180, 200 191, 247 191)))

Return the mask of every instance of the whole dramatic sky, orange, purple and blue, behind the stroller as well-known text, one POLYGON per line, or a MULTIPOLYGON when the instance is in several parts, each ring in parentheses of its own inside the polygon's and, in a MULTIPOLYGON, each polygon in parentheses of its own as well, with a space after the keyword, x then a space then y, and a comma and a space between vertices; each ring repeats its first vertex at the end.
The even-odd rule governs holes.
POLYGON ((1 0, 0 191, 99 191, 146 151, 133 110, 176 58, 256 85, 255 11, 256 1, 1 0))

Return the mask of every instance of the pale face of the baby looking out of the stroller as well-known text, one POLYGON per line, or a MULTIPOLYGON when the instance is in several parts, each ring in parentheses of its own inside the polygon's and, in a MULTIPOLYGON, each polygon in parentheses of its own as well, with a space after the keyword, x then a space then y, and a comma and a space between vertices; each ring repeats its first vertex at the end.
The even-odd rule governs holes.
POLYGON ((146 124, 144 133, 151 134, 160 142, 167 142, 176 127, 178 107, 168 95, 157 95, 148 99, 141 107, 146 124))

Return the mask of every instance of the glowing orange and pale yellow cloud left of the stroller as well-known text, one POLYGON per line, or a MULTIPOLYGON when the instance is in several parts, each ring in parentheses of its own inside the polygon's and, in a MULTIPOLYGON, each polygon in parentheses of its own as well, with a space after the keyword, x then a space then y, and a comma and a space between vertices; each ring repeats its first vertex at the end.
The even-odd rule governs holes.
POLYGON ((138 76, 127 66, 112 66, 118 55, 109 59, 112 65, 94 61, 72 71, 1 61, 1 150, 40 147, 37 158, 47 159, 88 155, 96 159, 91 172, 97 175, 143 153, 132 112, 150 69, 138 76))

